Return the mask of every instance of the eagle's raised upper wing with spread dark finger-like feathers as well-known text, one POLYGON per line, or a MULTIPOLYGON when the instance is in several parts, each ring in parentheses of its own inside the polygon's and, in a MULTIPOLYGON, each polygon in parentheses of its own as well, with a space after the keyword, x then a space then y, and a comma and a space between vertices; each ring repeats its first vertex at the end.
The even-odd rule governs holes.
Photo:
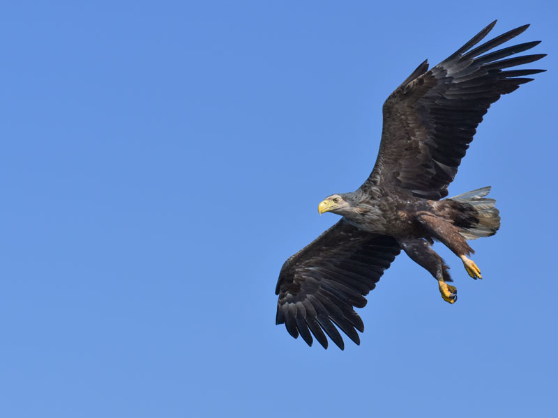
POLYGON ((506 59, 540 41, 488 52, 518 36, 528 24, 472 49, 495 24, 489 24, 432 70, 425 61, 391 93, 384 103, 378 158, 361 188, 388 185, 426 199, 447 196, 448 185, 490 104, 533 80, 523 76, 544 71, 504 71, 543 58, 545 54, 506 59))

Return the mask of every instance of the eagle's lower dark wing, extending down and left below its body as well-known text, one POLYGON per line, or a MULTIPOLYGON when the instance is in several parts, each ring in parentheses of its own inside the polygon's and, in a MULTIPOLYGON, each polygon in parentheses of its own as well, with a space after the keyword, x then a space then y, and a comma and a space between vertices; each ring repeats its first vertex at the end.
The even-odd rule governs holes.
POLYGON ((365 306, 364 296, 399 251, 395 238, 361 231, 341 219, 285 261, 276 288, 276 324, 285 323, 289 334, 301 334, 309 346, 314 334, 327 348, 327 334, 342 350, 335 323, 359 344, 356 330, 363 332, 364 325, 353 307, 365 306))

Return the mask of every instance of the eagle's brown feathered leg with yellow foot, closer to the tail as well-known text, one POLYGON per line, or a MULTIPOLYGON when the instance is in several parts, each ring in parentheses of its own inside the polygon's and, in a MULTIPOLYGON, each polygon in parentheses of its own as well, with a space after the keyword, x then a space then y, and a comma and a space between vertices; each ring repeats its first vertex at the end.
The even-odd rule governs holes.
POLYGON ((481 276, 481 269, 476 266, 474 261, 467 257, 475 251, 469 247, 467 240, 459 233, 457 226, 431 213, 421 214, 416 219, 424 226, 432 238, 442 242, 442 244, 451 249, 456 256, 461 258, 469 276, 475 280, 483 278, 481 276))

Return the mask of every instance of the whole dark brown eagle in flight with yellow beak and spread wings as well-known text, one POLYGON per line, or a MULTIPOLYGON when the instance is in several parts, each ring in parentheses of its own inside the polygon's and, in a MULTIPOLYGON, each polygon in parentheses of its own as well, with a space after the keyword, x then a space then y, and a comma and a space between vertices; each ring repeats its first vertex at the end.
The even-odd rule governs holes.
POLYGON ((276 287, 276 324, 285 324, 308 346, 328 347, 329 336, 341 350, 339 331, 357 345, 363 308, 395 256, 403 250, 437 280, 442 298, 453 304, 457 288, 445 261, 432 250, 442 242, 473 279, 481 270, 469 256, 467 240, 494 235, 500 226, 490 187, 444 199, 448 185, 490 104, 544 70, 514 69, 546 54, 509 58, 538 45, 525 42, 493 50, 525 31, 529 24, 475 47, 492 22, 447 59, 428 69, 418 65, 389 95, 372 173, 354 192, 331 194, 318 210, 342 218, 285 261, 276 287))

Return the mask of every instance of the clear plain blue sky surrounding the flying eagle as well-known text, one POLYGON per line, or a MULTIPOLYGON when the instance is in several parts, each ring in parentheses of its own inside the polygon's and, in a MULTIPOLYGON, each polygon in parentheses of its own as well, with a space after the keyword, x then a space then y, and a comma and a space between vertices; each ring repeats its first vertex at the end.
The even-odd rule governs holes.
POLYGON ((558 36, 548 1, 4 2, 2 417, 556 413, 558 36), (368 176, 382 103, 499 19, 549 71, 485 117, 450 194, 492 185, 459 301, 400 255, 361 346, 274 325, 285 258, 368 176))

